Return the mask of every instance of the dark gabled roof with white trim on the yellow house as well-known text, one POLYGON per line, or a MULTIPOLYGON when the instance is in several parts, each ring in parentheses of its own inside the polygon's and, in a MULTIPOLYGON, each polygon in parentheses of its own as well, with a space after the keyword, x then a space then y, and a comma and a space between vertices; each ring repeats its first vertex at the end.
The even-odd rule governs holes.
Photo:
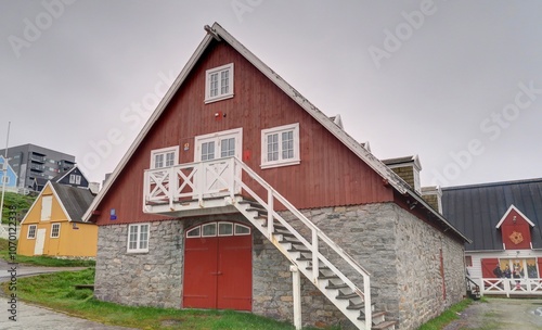
POLYGON ((25 223, 26 217, 30 214, 30 210, 36 206, 36 203, 41 199, 48 186, 51 187, 54 199, 61 205, 67 220, 70 223, 83 223, 82 215, 94 200, 94 195, 90 192, 90 190, 48 181, 38 198, 34 201, 21 224, 25 223))

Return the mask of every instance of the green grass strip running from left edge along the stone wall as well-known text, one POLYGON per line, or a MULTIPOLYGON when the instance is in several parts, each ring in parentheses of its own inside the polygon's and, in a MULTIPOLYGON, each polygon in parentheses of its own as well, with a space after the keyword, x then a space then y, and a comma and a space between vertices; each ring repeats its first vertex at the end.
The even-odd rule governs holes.
MULTIPOLYGON (((74 288, 74 284, 89 284, 93 281, 93 268, 20 278, 17 296, 86 319, 138 329, 295 329, 288 322, 279 322, 250 313, 121 306, 94 300, 90 289, 74 288)), ((4 292, 7 284, 2 284, 4 292)))

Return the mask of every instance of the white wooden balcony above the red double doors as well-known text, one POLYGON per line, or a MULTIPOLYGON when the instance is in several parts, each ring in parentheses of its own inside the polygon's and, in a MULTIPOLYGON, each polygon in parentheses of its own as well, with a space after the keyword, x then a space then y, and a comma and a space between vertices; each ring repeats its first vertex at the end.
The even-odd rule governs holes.
POLYGON ((177 217, 235 213, 240 180, 234 157, 146 169, 143 212, 177 217))

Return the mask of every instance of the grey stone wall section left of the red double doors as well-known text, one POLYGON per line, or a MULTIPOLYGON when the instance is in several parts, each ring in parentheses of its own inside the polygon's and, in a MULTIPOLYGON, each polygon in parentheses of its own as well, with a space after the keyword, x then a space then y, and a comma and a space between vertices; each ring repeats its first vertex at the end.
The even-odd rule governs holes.
POLYGON ((101 226, 94 296, 130 306, 179 307, 182 230, 181 221, 153 221, 149 253, 127 253, 128 225, 101 226))

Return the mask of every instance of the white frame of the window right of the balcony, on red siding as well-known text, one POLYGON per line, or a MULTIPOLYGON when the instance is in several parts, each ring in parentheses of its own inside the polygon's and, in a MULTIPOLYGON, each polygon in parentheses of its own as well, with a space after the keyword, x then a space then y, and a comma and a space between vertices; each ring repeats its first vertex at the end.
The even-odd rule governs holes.
POLYGON ((301 162, 299 155, 299 123, 272 127, 261 130, 261 168, 297 165, 301 162), (282 132, 293 131, 294 157, 282 157, 282 132), (268 137, 279 135, 279 160, 268 161, 268 137))

